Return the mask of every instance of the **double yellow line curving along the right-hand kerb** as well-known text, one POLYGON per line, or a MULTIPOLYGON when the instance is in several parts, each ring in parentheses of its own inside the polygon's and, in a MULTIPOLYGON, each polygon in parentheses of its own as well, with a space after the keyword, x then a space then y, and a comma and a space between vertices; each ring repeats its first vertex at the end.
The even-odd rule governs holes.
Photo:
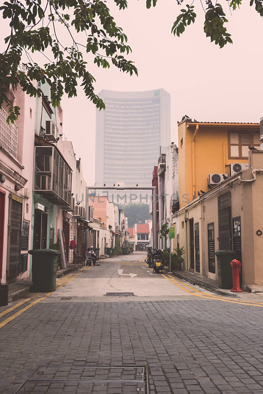
POLYGON ((253 307, 263 307, 263 303, 261 302, 256 302, 256 301, 236 301, 236 298, 230 298, 230 297, 220 297, 220 296, 215 296, 214 294, 207 294, 200 292, 199 290, 196 290, 194 287, 189 286, 188 284, 185 284, 184 282, 179 281, 178 279, 174 279, 171 275, 164 275, 161 274, 165 279, 168 279, 168 281, 172 282, 175 284, 175 286, 179 287, 180 289, 184 290, 186 293, 191 294, 192 296, 196 297, 201 297, 201 298, 206 298, 206 299, 215 299, 217 301, 224 301, 224 302, 230 302, 233 304, 239 304, 239 305, 251 305, 253 307), (187 290, 190 289, 190 290, 187 290))

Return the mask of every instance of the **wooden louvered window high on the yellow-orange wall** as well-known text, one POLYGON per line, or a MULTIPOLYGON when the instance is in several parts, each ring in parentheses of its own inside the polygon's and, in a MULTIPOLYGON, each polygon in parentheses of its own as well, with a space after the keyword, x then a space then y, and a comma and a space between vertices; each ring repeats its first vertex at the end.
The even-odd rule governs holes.
POLYGON ((247 159, 248 146, 260 146, 260 134, 252 131, 235 131, 228 132, 228 158, 229 159, 247 159))

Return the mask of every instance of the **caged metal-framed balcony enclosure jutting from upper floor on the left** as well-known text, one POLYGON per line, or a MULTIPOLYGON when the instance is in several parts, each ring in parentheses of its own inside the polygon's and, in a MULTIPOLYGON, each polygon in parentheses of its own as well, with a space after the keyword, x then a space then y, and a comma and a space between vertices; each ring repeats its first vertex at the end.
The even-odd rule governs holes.
POLYGON ((34 191, 61 208, 71 206, 72 172, 54 146, 35 147, 34 191))

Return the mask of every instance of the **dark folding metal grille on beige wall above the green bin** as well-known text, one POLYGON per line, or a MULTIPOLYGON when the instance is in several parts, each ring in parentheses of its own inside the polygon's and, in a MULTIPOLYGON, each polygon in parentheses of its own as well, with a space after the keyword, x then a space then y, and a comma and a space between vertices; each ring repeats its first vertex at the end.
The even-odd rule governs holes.
POLYGON ((219 250, 232 249, 231 193, 222 194, 218 200, 219 250))

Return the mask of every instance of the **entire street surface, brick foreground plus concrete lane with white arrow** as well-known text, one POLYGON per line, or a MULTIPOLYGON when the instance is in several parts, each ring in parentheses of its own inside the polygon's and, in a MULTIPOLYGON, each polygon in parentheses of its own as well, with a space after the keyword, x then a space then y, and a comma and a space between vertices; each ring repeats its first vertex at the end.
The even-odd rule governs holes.
POLYGON ((144 257, 101 260, 1 307, 0 393, 262 394, 261 297, 153 274, 144 257))

